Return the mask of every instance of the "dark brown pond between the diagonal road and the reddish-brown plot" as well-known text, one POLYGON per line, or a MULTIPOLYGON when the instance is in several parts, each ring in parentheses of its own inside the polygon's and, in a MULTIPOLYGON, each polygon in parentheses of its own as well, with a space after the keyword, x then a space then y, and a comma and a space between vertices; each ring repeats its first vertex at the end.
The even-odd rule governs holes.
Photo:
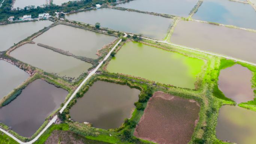
POLYGON ((129 86, 97 81, 71 107, 71 119, 89 122, 96 128, 118 128, 130 117, 140 91, 129 86))

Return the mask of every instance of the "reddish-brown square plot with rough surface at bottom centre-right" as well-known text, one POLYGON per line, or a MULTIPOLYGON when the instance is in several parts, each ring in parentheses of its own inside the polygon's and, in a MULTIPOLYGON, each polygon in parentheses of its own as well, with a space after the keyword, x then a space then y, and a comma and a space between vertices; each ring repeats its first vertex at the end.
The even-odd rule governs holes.
POLYGON ((155 92, 135 128, 135 137, 159 144, 187 144, 199 119, 197 102, 155 92))

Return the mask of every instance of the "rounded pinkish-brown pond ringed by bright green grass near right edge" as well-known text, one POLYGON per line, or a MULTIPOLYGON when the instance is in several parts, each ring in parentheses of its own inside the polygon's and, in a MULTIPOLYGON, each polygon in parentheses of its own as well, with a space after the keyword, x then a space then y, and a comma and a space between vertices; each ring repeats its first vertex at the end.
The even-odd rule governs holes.
POLYGON ((252 71, 241 65, 234 65, 220 71, 219 89, 238 104, 253 100, 252 71))

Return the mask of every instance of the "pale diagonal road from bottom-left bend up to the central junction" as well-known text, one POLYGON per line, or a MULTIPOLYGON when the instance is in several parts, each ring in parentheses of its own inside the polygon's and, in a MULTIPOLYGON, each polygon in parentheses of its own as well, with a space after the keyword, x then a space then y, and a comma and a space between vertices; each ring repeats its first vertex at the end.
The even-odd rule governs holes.
MULTIPOLYGON (((124 33, 126 37, 127 34, 124 33)), ((103 61, 100 62, 100 64, 98 64, 98 66, 91 71, 91 73, 88 74, 88 76, 83 80, 83 82, 77 87, 76 91, 74 91, 74 93, 70 96, 70 98, 68 99, 68 101, 64 104, 64 106, 61 108, 60 113, 62 113, 64 111, 64 109, 67 107, 68 103, 74 98, 74 96, 76 95, 76 93, 80 90, 80 88, 83 86, 83 84, 85 84, 85 82, 87 82, 87 80, 95 74, 95 72, 98 70, 98 68, 100 68, 100 66, 103 64, 104 61, 107 60, 107 58, 109 58, 110 54, 113 52, 113 50, 118 46, 118 44, 122 41, 122 39, 120 39, 118 41, 118 43, 116 43, 116 45, 109 51, 109 53, 106 55, 106 57, 103 59, 103 61)), ((33 140, 29 141, 29 142, 22 142, 21 140, 19 140, 18 138, 14 137, 12 134, 10 134, 9 132, 5 131, 4 129, 0 128, 0 131, 2 131, 4 134, 8 135, 9 137, 13 138, 13 140, 17 141, 20 144, 32 144, 35 141, 38 140, 38 138, 49 128, 49 126, 51 126, 56 120, 57 120, 57 115, 54 116, 52 118, 52 120, 48 123, 48 125, 46 125, 46 127, 39 133, 39 135, 37 135, 33 140)))

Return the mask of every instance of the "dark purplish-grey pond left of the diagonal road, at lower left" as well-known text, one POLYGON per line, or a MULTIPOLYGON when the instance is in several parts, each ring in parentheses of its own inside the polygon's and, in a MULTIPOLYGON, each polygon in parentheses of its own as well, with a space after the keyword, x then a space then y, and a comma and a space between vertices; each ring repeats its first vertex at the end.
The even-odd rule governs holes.
POLYGON ((23 137, 31 137, 67 94, 64 89, 37 79, 10 104, 0 108, 0 122, 23 137))

